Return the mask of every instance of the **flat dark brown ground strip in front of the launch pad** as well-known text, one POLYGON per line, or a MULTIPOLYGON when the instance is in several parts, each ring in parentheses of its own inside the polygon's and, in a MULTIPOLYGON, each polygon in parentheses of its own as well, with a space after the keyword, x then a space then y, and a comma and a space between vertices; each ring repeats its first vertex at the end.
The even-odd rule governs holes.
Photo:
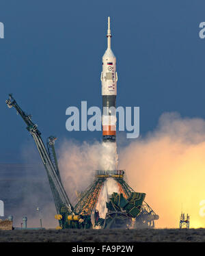
POLYGON ((0 242, 205 242, 205 229, 13 230, 0 242))

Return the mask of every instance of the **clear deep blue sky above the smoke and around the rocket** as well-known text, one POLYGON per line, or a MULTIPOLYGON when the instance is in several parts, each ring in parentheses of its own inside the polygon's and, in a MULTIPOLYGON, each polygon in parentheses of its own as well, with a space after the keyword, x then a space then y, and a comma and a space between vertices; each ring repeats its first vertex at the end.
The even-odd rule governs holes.
POLYGON ((117 57, 117 104, 140 107, 140 134, 163 112, 205 118, 204 1, 2 0, 0 162, 20 162, 32 141, 5 105, 8 93, 33 115, 43 138, 100 140, 98 131, 66 131, 66 108, 101 106, 101 58, 111 16, 117 57))

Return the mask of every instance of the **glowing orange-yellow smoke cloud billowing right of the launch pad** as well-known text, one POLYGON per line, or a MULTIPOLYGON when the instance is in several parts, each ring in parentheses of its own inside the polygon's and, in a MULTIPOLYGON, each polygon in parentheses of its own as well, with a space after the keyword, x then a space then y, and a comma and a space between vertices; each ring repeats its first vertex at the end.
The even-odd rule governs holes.
POLYGON ((145 192, 146 202, 159 214, 156 227, 179 227, 181 211, 190 215, 190 227, 205 226, 200 214, 204 156, 205 121, 177 113, 163 114, 155 131, 120 151, 120 168, 126 169, 129 185, 145 192))

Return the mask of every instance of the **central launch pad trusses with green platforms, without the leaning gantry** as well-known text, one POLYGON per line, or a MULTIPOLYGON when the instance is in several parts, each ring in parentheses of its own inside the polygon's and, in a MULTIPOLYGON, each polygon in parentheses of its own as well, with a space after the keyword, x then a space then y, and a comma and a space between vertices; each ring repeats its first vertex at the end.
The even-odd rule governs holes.
MULTIPOLYGON (((109 195, 109 200, 106 203, 107 214, 105 219, 100 218, 97 223, 95 221, 95 226, 108 228, 105 223, 108 222, 108 219, 111 219, 112 222, 118 222, 118 225, 112 225, 113 227, 153 228, 154 220, 158 220, 159 216, 144 201, 146 194, 135 192, 124 181, 124 173, 125 170, 96 170, 94 182, 79 196, 79 201, 74 207, 74 211, 79 215, 91 216, 94 213, 102 186, 107 179, 113 179, 118 183, 119 193, 109 195), (119 225, 119 222, 121 222, 121 225, 119 225)), ((110 227, 111 225, 109 225, 110 227)))

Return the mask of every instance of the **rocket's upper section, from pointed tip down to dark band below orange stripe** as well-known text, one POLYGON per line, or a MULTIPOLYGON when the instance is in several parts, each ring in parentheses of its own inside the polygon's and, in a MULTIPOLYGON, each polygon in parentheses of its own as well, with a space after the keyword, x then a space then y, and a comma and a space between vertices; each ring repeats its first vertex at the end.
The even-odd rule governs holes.
POLYGON ((102 141, 116 141, 116 113, 115 103, 117 95, 118 74, 116 72, 116 58, 111 50, 110 18, 108 17, 107 50, 102 56, 102 141))

